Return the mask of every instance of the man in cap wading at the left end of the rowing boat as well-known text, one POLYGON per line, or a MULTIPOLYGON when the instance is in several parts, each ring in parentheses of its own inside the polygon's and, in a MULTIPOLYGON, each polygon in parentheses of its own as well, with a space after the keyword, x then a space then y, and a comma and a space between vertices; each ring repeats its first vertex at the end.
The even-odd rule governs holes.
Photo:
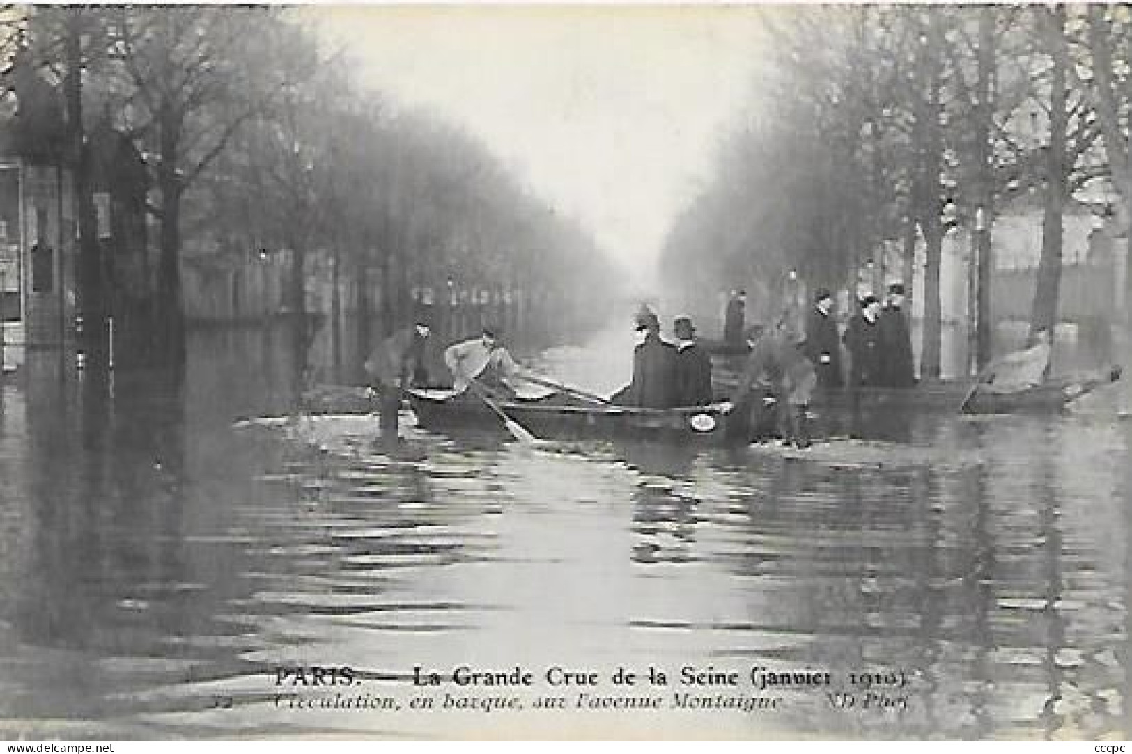
POLYGON ((397 410, 401 391, 428 384, 426 345, 431 333, 432 307, 421 305, 412 327, 400 329, 381 341, 366 360, 370 387, 376 389, 380 403, 378 414, 381 440, 386 447, 397 445, 397 410))

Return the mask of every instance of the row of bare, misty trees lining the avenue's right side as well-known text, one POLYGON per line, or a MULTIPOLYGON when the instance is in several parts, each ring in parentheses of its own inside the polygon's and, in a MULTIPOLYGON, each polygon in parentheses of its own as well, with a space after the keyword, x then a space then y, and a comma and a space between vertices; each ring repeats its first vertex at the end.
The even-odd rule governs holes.
POLYGON ((860 6, 764 17, 761 110, 677 219, 666 266, 710 260, 691 283, 704 290, 787 269, 842 288, 885 248, 901 250, 899 276, 911 280, 921 247, 921 371, 932 378, 945 237, 972 238, 985 363, 996 211, 1030 195, 1044 226, 1031 326, 1056 323, 1067 203, 1118 196, 1123 207, 1109 209, 1132 216, 1129 9, 860 6))

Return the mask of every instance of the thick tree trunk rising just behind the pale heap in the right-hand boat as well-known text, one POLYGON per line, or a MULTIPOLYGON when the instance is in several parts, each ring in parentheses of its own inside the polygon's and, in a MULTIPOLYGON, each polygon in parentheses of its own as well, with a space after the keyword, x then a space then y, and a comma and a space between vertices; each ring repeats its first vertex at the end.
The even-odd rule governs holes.
POLYGON ((1034 308, 1030 316, 1031 334, 1038 329, 1055 333, 1057 324, 1057 298, 1061 290, 1062 272, 1062 215, 1065 207, 1065 67, 1057 48, 1064 41, 1065 9, 1054 8, 1046 12, 1044 36, 1050 50, 1053 70, 1050 72, 1049 98, 1049 148, 1046 154, 1046 192, 1041 223, 1041 258, 1038 262, 1038 277, 1034 291, 1034 308))

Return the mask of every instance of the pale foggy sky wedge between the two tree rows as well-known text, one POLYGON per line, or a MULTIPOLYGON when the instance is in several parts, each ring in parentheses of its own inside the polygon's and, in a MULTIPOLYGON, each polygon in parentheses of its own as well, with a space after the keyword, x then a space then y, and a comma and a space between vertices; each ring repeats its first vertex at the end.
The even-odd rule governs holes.
POLYGON ((359 80, 466 127, 638 283, 752 101, 755 8, 319 7, 359 80))

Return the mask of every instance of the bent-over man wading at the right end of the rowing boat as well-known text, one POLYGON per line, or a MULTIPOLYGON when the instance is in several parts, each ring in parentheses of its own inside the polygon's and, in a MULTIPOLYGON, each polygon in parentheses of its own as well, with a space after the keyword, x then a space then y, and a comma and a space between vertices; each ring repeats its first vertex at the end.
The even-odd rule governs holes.
POLYGON ((782 438, 797 447, 808 447, 806 408, 817 386, 817 372, 799 349, 801 334, 783 317, 770 332, 752 332, 749 340, 751 355, 731 393, 731 410, 740 417, 749 415, 752 408, 760 410, 761 406, 752 406, 752 397, 757 383, 767 378, 778 400, 782 438))

